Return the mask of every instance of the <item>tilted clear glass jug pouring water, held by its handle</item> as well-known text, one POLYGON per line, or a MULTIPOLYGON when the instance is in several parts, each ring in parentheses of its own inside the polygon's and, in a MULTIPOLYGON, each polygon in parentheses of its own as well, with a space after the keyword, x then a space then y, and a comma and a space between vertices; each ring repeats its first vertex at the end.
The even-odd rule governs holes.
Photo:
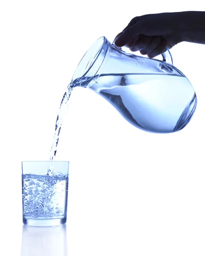
POLYGON ((172 65, 169 50, 162 57, 126 53, 101 37, 83 56, 72 83, 94 90, 137 128, 176 132, 190 121, 197 99, 191 83, 172 65))

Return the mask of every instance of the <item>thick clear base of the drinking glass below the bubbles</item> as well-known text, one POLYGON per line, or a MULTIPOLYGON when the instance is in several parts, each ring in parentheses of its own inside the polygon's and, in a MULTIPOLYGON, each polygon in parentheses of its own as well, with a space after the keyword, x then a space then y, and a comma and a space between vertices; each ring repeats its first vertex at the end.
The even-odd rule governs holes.
POLYGON ((59 226, 66 223, 66 217, 56 219, 30 219, 23 218, 23 224, 36 227, 59 226))

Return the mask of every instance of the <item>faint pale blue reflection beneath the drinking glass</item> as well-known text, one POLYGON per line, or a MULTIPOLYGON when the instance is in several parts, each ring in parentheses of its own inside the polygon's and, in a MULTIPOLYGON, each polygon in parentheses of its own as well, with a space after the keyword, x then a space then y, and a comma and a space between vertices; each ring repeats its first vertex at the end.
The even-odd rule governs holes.
POLYGON ((21 256, 68 256, 66 225, 30 227, 23 225, 21 256))

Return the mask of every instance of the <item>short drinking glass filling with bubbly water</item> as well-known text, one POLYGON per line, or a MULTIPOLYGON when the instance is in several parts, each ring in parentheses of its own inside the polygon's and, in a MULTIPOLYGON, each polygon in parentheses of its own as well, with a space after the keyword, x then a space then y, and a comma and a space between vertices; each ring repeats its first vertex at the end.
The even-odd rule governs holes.
POLYGON ((51 163, 22 162, 23 223, 29 226, 57 226, 66 222, 69 162, 54 161, 54 171, 47 175, 51 163))

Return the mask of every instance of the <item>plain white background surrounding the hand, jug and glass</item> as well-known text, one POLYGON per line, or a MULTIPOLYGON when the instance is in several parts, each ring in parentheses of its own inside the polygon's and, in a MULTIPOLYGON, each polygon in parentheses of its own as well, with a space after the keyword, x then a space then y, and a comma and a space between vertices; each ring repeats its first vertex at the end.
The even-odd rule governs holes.
POLYGON ((49 160, 60 101, 86 50, 103 35, 112 42, 135 16, 187 10, 205 4, 1 1, 1 255, 205 255, 205 45, 171 49, 198 98, 191 122, 174 134, 134 128, 103 98, 75 88, 56 157, 70 161, 67 234, 22 225, 21 161, 49 160))

